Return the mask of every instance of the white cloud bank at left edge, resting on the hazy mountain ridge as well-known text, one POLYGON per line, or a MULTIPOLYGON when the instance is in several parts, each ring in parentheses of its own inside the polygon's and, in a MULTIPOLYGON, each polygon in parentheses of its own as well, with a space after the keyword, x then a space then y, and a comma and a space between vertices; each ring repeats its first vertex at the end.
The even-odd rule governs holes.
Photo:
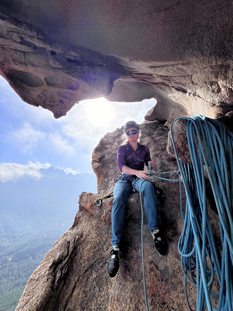
POLYGON ((42 174, 39 169, 48 169, 51 164, 48 162, 42 164, 40 162, 33 163, 31 161, 28 164, 16 164, 16 163, 0 163, 0 180, 5 183, 8 180, 18 182, 25 179, 39 180, 42 178, 42 174))

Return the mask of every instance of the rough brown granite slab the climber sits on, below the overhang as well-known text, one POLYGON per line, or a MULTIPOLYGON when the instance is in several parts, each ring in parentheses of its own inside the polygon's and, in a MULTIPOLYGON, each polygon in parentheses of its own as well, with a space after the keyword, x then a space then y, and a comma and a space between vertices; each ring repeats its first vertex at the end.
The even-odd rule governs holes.
MULTIPOLYGON (((147 145, 158 172, 176 171, 176 161, 167 160, 168 129, 164 122, 140 125, 141 143, 147 145)), ((93 169, 98 194, 81 193, 80 210, 74 224, 54 244, 30 277, 16 311, 144 310, 141 257, 141 207, 139 194, 130 195, 126 209, 125 244, 115 278, 107 273, 111 250, 111 209, 113 197, 98 207, 99 194, 112 190, 112 177, 119 171, 116 151, 122 130, 106 134, 93 151, 93 169), (108 172, 108 173, 105 173, 108 172)), ((168 175, 176 179, 176 174, 168 175)), ((161 256, 155 249, 144 215, 144 258, 150 310, 186 311, 184 276, 177 250, 183 220, 180 215, 179 183, 159 181, 166 194, 159 217, 168 244, 161 256)), ((185 193, 183 189, 185 204, 185 193)), ((185 206, 184 206, 185 207, 185 206)), ((183 208, 184 208, 183 207, 183 208)), ((214 223, 217 215, 210 209, 214 223)), ((217 223, 217 221, 216 221, 217 223)), ((217 230, 216 230, 217 232, 217 230)), ((188 285, 190 304, 195 308, 195 290, 188 285)))

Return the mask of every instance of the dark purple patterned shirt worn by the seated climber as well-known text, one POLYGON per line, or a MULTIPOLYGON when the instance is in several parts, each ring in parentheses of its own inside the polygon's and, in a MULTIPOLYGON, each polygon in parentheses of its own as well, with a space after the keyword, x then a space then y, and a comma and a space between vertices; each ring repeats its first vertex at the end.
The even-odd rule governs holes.
POLYGON ((136 169, 142 171, 144 164, 148 165, 148 161, 151 161, 149 148, 145 145, 139 144, 137 150, 130 146, 129 143, 118 147, 117 150, 117 163, 120 171, 124 165, 130 169, 136 169))

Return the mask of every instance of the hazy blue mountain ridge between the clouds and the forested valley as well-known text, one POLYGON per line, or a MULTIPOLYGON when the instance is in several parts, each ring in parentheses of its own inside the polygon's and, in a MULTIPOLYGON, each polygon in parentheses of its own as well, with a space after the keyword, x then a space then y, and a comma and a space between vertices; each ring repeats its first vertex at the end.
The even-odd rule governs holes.
POLYGON ((78 211, 78 195, 82 191, 96 192, 94 174, 66 174, 53 166, 39 171, 43 177, 37 181, 0 182, 0 212, 4 221, 11 221, 13 214, 32 223, 39 221, 42 227, 47 226, 48 220, 52 225, 59 215, 65 217, 63 220, 73 220, 78 211))

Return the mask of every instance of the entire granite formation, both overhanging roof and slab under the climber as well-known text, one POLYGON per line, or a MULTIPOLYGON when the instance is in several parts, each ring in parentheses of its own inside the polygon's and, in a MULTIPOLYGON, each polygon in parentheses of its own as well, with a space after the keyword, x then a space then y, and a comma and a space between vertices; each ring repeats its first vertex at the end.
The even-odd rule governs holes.
MULTIPOLYGON (((177 164, 167 157, 163 125, 179 116, 205 114, 232 126, 232 26, 232 2, 227 0, 3 0, 0 74, 25 102, 49 109, 55 118, 80 100, 154 97, 157 104, 145 119, 163 122, 142 125, 142 143, 149 146, 158 171, 174 171, 177 164)), ((101 207, 95 204, 99 194, 112 190, 119 173, 120 134, 117 129, 105 135, 94 149, 98 194, 81 194, 74 225, 32 274, 16 311, 145 309, 139 195, 128 200, 126 243, 114 279, 107 274, 112 197, 101 207)), ((183 225, 179 188, 160 184, 166 193, 160 220, 169 250, 165 257, 157 253, 144 219, 148 304, 153 310, 185 311, 177 251, 183 225)), ((217 236, 217 215, 210 208, 209 213, 217 236)), ((194 309, 191 285, 188 293, 194 309)))

